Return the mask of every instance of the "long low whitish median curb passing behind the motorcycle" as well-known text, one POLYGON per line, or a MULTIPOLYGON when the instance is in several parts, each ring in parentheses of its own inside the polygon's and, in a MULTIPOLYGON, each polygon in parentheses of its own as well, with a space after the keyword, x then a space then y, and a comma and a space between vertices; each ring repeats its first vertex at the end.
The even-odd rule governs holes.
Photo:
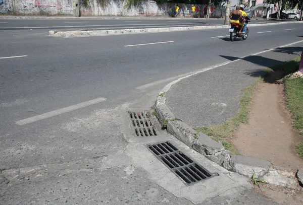
MULTIPOLYGON (((303 23, 301 21, 291 22, 293 24, 303 23)), ((277 22, 269 24, 250 24, 249 27, 257 26, 273 26, 280 24, 289 24, 289 22, 277 22)), ((207 30, 207 29, 221 29, 229 28, 229 25, 220 26, 188 26, 188 27, 168 27, 168 28, 142 28, 142 29, 117 29, 117 30, 100 30, 100 31, 49 31, 50 36, 55 37, 79 37, 79 36, 106 36, 106 35, 121 35, 121 34, 142 34, 142 33, 160 33, 172 31, 188 31, 188 30, 207 30)))

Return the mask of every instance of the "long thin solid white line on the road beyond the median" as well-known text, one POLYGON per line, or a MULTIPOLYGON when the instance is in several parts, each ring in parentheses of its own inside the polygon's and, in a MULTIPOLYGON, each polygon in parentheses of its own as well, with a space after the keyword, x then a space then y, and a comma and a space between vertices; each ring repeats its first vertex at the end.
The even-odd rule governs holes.
MULTIPOLYGON (((193 23, 184 23, 183 25, 192 25, 193 23)), ((85 25, 85 27, 102 27, 102 26, 144 26, 144 25, 179 25, 179 24, 113 24, 113 25, 85 25)), ((0 29, 41 29, 41 28, 69 28, 69 27, 83 27, 82 26, 40 26, 40 27, 1 27, 0 29)))

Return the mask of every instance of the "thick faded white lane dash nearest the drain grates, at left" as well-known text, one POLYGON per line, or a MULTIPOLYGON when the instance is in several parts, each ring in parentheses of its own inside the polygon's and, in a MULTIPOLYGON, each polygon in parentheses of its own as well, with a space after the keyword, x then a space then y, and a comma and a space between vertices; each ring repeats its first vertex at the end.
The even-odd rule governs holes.
POLYGON ((48 117, 53 117, 53 116, 60 115, 60 114, 66 113, 66 112, 70 112, 70 111, 73 111, 73 110, 76 110, 76 109, 79 109, 79 108, 82 108, 82 107, 87 107, 89 105, 93 105, 93 104, 103 102, 103 101, 106 101, 106 98, 96 98, 96 99, 89 100, 89 101, 79 103, 79 104, 76 104, 76 105, 61 108, 59 110, 54 110, 52 112, 46 112, 44 114, 40 114, 40 115, 29 117, 29 118, 26 118, 26 119, 23 119, 23 120, 19 120, 19 121, 16 122, 16 124, 25 125, 25 124, 32 123, 32 122, 35 122, 35 121, 38 121, 38 120, 41 120, 41 119, 46 119, 48 117))

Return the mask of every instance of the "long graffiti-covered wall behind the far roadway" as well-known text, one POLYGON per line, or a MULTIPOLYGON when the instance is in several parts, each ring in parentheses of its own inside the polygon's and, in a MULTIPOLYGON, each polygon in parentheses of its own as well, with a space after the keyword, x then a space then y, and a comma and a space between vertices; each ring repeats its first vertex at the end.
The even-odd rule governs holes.
MULTIPOLYGON (((80 5, 84 0, 80 0, 80 5)), ((73 15, 73 0, 0 0, 0 14, 12 15, 73 15)), ((191 15, 191 4, 178 4, 180 16, 191 15)), ((89 0, 80 7, 82 16, 169 16, 175 12, 176 3, 161 3, 148 0, 138 6, 127 7, 127 0, 108 0, 100 5, 99 0, 89 0)), ((205 5, 195 5, 198 17, 204 17, 205 5)), ((221 18, 225 7, 211 7, 210 17, 221 18)))

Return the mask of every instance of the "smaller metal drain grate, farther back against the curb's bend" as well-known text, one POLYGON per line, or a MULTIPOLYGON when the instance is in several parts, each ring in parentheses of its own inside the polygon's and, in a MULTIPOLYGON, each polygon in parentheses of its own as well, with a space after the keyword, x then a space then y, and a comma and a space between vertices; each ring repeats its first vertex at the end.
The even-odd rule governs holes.
POLYGON ((156 130, 151 124, 149 117, 143 112, 128 111, 130 124, 137 136, 156 136, 156 130))

